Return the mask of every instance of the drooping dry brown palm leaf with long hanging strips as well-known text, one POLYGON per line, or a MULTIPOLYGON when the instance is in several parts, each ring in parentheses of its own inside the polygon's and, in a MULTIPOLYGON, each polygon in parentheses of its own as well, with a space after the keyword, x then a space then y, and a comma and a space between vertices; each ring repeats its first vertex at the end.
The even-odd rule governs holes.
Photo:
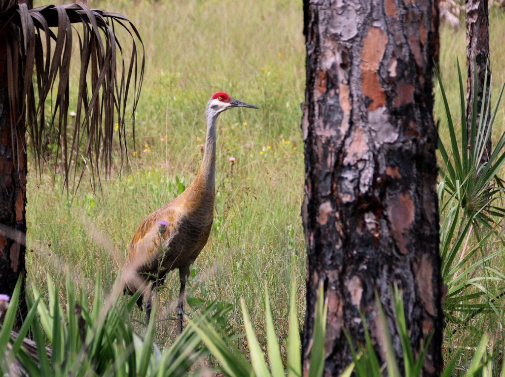
MULTIPOLYGON (((94 177, 99 182, 102 168, 106 175, 111 173, 115 133, 121 151, 120 167, 127 158, 127 125, 131 124, 135 135, 135 109, 144 71, 144 47, 137 29, 121 14, 90 10, 79 4, 29 10, 25 4, 11 2, 5 9, 0 13, 0 35, 7 35, 10 113, 26 117, 37 170, 41 170, 47 135, 55 135, 65 187, 68 189, 73 182, 70 186, 77 189, 86 169, 94 185, 94 177), (10 26, 13 24, 16 27, 10 26), (121 30, 131 38, 128 47, 116 38, 121 30), (72 57, 75 35, 79 42, 78 60, 72 57), (125 59, 127 50, 130 52, 125 59), (68 127, 69 71, 76 60, 80 73, 72 130, 68 127), (18 87, 19 75, 24 79, 23 88, 18 87), (52 102, 50 115, 44 109, 48 97, 52 102), (128 104, 131 117, 126 114, 128 104), (18 108, 21 112, 14 111, 18 108), (80 159, 84 167, 78 173, 80 159)), ((24 120, 13 120, 12 127, 20 122, 24 120)), ((16 128, 18 139, 24 140, 23 127, 16 128), (23 135, 19 135, 21 132, 23 135)), ((12 142, 16 147, 19 141, 12 142)))

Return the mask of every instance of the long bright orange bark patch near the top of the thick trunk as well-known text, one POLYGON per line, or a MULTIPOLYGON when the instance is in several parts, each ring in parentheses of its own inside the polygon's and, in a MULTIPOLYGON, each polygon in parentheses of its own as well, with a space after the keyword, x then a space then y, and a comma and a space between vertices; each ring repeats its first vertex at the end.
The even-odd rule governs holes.
POLYGON ((386 95, 379 82, 379 64, 386 50, 387 34, 378 27, 371 27, 363 39, 361 54, 361 77, 363 94, 371 98, 368 110, 384 106, 386 95))

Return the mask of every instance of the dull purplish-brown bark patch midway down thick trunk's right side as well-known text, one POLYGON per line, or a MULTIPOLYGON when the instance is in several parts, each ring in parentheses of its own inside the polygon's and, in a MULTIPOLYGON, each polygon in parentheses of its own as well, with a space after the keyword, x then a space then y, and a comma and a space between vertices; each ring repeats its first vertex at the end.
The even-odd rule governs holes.
POLYGON ((400 253, 407 254, 408 237, 403 238, 403 232, 408 230, 414 221, 414 202, 407 194, 393 197, 387 208, 387 216, 391 222, 393 237, 400 253))

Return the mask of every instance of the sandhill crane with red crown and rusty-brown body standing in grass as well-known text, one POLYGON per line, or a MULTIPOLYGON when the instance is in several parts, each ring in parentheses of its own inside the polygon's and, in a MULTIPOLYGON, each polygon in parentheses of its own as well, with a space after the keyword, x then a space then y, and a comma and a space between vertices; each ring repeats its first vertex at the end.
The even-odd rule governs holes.
POLYGON ((182 313, 186 277, 207 243, 214 218, 216 171, 216 119, 233 107, 257 106, 233 98, 224 92, 214 93, 207 103, 207 139, 204 157, 193 182, 174 200, 151 213, 138 227, 126 259, 126 289, 142 291, 137 304, 145 298, 146 324, 149 323, 153 291, 167 273, 179 268, 181 283, 177 303, 178 331, 182 332, 182 313), (150 285, 148 282, 151 282, 150 285))

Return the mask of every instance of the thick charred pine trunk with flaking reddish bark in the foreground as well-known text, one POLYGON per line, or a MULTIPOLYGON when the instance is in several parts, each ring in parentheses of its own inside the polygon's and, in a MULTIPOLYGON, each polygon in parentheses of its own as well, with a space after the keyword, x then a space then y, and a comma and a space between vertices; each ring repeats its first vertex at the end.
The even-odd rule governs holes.
POLYGON ((375 292, 401 363, 393 284, 402 290, 416 354, 433 334, 423 375, 439 375, 443 298, 432 115, 437 2, 305 0, 304 16, 304 374, 322 280, 328 300, 325 375, 340 374, 352 361, 343 329, 355 345, 364 343, 360 311, 385 361, 375 292))

